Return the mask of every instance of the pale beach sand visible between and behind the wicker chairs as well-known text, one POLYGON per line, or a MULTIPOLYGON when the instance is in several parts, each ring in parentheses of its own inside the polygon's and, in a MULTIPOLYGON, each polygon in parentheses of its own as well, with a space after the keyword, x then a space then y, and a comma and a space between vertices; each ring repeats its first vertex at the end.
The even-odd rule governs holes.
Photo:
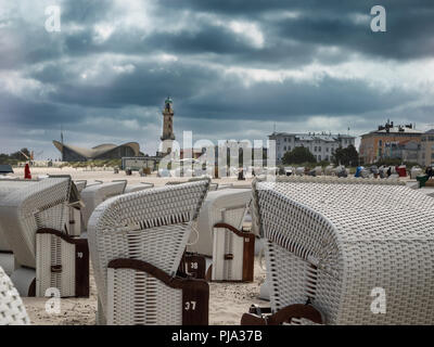
MULTIPOLYGON (((14 176, 23 177, 24 169, 14 170, 14 176)), ((126 176, 124 171, 114 174, 113 169, 84 170, 73 168, 31 168, 31 175, 71 175, 75 180, 86 179, 112 181, 125 179, 128 183, 151 182, 155 187, 162 187, 170 180, 187 180, 187 178, 158 178, 155 175, 140 177, 138 172, 126 176)), ((235 185, 250 185, 251 180, 238 181, 226 178, 213 180, 219 184, 233 183, 235 185)), ((89 298, 62 298, 61 312, 59 314, 46 312, 47 298, 24 297, 24 304, 36 325, 93 325, 97 312, 97 287, 93 280, 92 267, 90 267, 90 296, 89 298)), ((209 283, 209 324, 239 325, 241 317, 248 310, 252 304, 267 306, 268 303, 259 299, 259 286, 265 279, 265 271, 259 261, 255 259, 254 282, 252 283, 209 283)))

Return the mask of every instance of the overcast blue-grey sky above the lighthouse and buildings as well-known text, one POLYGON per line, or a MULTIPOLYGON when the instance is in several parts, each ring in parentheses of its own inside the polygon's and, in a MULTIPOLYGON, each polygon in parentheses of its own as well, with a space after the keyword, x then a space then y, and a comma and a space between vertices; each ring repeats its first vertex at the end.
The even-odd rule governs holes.
POLYGON ((0 0, 0 152, 434 124, 433 0, 0 0), (387 31, 372 33, 381 4, 387 31), (410 5, 411 4, 411 5, 410 5), (61 8, 61 31, 46 8, 61 8))

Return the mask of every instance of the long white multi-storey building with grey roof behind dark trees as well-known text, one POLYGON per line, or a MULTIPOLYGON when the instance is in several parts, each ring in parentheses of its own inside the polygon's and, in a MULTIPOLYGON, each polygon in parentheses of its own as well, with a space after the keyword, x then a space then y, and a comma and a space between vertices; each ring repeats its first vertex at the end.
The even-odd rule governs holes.
POLYGON ((289 133, 273 132, 268 136, 269 140, 276 141, 276 160, 282 162, 283 155, 294 147, 307 147, 318 162, 330 160, 334 150, 342 146, 355 145, 356 138, 348 134, 332 133, 289 133))

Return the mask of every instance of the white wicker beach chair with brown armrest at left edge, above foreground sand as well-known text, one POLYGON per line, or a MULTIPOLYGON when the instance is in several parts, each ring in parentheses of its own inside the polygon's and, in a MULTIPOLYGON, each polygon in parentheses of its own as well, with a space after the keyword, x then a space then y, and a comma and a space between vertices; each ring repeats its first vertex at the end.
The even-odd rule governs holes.
POLYGON ((88 296, 87 241, 65 231, 78 198, 71 177, 9 183, 0 182, 11 190, 0 200, 0 224, 15 257, 11 280, 20 294, 44 296, 56 287, 63 297, 88 296))

